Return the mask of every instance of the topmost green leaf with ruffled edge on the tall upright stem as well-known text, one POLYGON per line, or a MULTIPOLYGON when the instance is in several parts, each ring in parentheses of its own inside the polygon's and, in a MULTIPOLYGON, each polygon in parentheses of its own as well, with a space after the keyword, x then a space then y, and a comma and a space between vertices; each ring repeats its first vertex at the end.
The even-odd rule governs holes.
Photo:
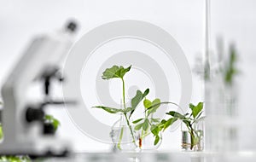
POLYGON ((103 73, 102 73, 102 79, 110 79, 110 78, 124 78, 125 73, 129 72, 131 69, 130 67, 124 68, 122 66, 113 66, 111 68, 107 68, 103 73))

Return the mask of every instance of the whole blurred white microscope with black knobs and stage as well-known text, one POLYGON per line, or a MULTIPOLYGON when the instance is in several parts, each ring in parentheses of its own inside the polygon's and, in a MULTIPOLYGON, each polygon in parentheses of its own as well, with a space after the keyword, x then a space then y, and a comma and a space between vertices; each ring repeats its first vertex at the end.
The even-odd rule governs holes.
POLYGON ((45 107, 74 104, 74 101, 51 99, 52 81, 63 81, 61 60, 73 44, 76 23, 69 22, 60 32, 44 34, 32 40, 2 87, 3 142, 0 154, 28 154, 32 156, 66 155, 71 144, 53 136, 53 125, 44 123, 45 107), (26 90, 35 81, 43 84, 44 99, 32 103, 26 90))

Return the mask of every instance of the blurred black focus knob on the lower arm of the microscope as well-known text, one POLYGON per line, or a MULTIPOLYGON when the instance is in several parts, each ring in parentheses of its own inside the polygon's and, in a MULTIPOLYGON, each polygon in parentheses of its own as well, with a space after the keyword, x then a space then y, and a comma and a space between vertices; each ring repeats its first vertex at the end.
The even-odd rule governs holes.
POLYGON ((26 121, 31 123, 33 121, 43 121, 44 111, 41 108, 28 107, 26 109, 26 121))

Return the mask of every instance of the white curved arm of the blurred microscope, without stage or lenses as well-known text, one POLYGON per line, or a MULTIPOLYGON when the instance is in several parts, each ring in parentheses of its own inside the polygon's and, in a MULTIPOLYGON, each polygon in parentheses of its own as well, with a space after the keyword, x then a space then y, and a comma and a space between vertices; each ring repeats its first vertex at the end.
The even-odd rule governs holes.
MULTIPOLYGON (((73 31, 73 26, 68 26, 73 31)), ((72 33, 66 31, 55 35, 42 35, 35 38, 25 54, 21 56, 13 71, 2 87, 3 96, 3 132, 4 140, 0 152, 29 152, 27 148, 38 147, 33 126, 28 126, 26 111, 30 107, 26 91, 36 78, 58 69, 61 59, 65 58, 72 45, 72 33), (34 141, 33 141, 34 140, 34 141), (23 146, 20 146, 21 144, 23 146)), ((35 125, 35 124, 32 124, 35 125)))

